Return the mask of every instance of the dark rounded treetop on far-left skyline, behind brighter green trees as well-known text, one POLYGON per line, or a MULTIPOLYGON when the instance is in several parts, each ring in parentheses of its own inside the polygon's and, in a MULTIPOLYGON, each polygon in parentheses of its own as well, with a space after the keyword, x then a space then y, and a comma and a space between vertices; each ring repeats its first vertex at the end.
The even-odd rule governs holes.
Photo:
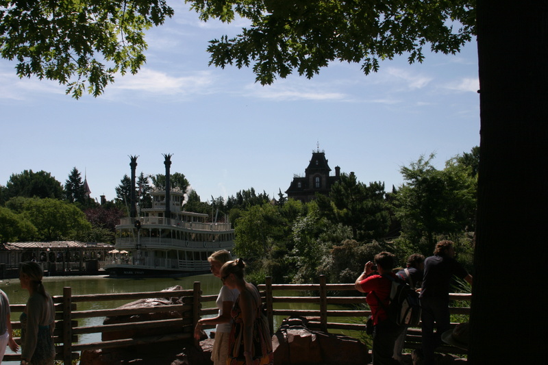
POLYGON ((64 192, 61 183, 51 176, 51 173, 25 170, 20 174, 12 174, 5 185, 5 197, 8 201, 12 197, 26 198, 53 198, 63 199, 64 192))

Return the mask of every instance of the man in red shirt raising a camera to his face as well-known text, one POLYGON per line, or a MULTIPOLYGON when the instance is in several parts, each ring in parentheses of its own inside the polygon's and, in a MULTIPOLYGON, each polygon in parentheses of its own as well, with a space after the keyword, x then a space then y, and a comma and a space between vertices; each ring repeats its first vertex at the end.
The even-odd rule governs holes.
POLYGON ((355 283, 356 290, 366 293, 366 302, 373 317, 373 365, 399 364, 393 359, 394 344, 403 327, 390 320, 387 312, 393 281, 386 276, 397 280, 392 272, 394 259, 392 253, 377 253, 374 258, 376 268, 373 262, 367 262, 355 283))

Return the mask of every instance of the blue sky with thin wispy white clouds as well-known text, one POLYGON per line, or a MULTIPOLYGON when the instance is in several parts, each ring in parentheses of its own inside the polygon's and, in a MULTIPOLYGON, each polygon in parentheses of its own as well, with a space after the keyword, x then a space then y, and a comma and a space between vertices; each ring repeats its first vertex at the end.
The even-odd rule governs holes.
POLYGON ((183 173, 201 201, 254 188, 276 197, 304 175, 312 152, 325 151, 334 175, 401 186, 400 169, 436 153, 434 166, 479 145, 475 40, 457 55, 427 53, 360 64, 332 62, 312 79, 290 75, 271 86, 251 69, 208 66, 208 40, 238 34, 245 21, 200 22, 180 1, 175 16, 150 29, 147 64, 116 77, 105 93, 79 100, 65 86, 19 79, 0 60, 0 185, 24 170, 47 171, 62 184, 76 167, 91 196, 116 197, 130 175, 183 173))

